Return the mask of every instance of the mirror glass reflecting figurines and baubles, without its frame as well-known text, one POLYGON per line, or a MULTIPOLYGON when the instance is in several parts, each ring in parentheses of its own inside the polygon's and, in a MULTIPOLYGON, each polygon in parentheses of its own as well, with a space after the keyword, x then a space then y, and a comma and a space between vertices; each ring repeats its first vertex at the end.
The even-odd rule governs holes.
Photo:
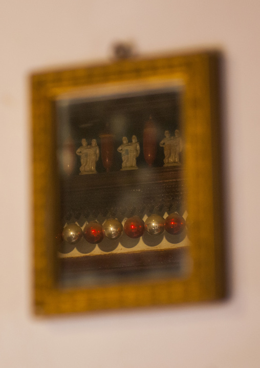
POLYGON ((190 272, 182 90, 118 91, 56 102, 61 287, 190 272))

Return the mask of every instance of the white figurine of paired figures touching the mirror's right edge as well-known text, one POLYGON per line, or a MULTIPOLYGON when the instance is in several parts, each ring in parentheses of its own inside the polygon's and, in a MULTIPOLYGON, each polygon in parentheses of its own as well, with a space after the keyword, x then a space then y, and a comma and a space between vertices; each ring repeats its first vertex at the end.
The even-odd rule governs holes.
POLYGON ((160 142, 160 147, 164 148, 164 166, 180 165, 180 152, 182 151, 182 139, 178 129, 175 136, 171 137, 168 130, 164 132, 165 138, 160 142))

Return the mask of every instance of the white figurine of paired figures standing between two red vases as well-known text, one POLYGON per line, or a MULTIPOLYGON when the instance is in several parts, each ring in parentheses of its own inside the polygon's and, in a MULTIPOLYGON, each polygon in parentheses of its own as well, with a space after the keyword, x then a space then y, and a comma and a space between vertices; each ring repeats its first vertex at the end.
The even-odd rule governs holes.
POLYGON ((122 169, 121 170, 136 170, 136 158, 140 154, 140 145, 137 137, 133 135, 132 142, 128 142, 126 137, 122 138, 122 145, 118 147, 117 151, 122 155, 122 169))

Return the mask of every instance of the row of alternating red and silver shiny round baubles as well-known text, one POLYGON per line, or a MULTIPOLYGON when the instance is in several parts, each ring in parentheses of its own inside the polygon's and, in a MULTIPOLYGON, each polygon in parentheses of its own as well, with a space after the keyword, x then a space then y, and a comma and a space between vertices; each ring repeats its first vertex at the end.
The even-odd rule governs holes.
POLYGON ((126 219, 124 226, 115 218, 107 219, 103 225, 97 221, 86 224, 83 231, 76 223, 70 223, 62 231, 62 239, 69 244, 76 244, 82 236, 92 244, 100 243, 104 236, 115 240, 123 230, 127 236, 140 238, 144 231, 152 236, 160 235, 166 230, 171 235, 180 234, 185 228, 185 219, 178 213, 171 213, 165 219, 157 214, 147 217, 145 222, 139 216, 126 219))

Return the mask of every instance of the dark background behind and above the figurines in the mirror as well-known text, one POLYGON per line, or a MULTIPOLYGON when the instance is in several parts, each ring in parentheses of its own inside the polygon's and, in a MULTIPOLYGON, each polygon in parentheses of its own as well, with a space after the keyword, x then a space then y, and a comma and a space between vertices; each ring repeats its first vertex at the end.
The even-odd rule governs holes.
MULTIPOLYGON (((122 144, 123 136, 126 136, 128 141, 132 141, 132 135, 137 136, 141 150, 137 166, 147 167, 143 155, 143 129, 150 116, 157 127, 155 167, 163 166, 164 153, 159 142, 164 138, 164 131, 169 130, 171 135, 174 135, 175 129, 181 131, 181 93, 176 90, 128 93, 96 99, 71 99, 65 107, 58 105, 57 112, 58 147, 62 146, 68 134, 74 139, 75 150, 81 146, 82 138, 85 138, 89 145, 93 138, 97 139, 100 148, 99 135, 102 132, 110 131, 115 135, 112 171, 121 169, 121 154, 117 152, 117 148, 122 144), (64 129, 66 125, 68 127, 64 129)), ((78 159, 74 174, 79 172, 79 167, 78 159)), ((105 171, 101 158, 96 169, 98 172, 105 171)))

